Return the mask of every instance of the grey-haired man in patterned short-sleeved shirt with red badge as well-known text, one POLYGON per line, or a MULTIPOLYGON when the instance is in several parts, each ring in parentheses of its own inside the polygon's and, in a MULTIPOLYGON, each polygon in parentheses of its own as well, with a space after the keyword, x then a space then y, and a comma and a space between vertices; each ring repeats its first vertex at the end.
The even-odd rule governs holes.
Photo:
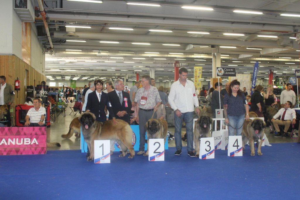
MULTIPOLYGON (((140 148, 137 155, 145 154, 145 124, 151 119, 153 112, 157 111, 161 105, 161 98, 156 87, 150 85, 151 78, 149 75, 142 76, 142 88, 137 90, 135 95, 135 104, 137 109, 137 123, 140 128, 140 148)), ((156 119, 156 113, 153 116, 156 119)), ((146 156, 146 155, 145 155, 146 156)))

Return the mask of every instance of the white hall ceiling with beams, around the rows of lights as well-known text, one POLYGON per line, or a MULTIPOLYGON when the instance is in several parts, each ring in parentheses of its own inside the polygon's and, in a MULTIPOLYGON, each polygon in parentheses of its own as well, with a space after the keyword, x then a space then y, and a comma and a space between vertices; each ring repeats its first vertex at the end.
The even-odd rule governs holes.
MULTIPOLYGON (((274 69, 274 74, 279 76, 291 76, 294 74, 293 69, 299 68, 300 52, 296 51, 299 50, 299 44, 290 37, 295 37, 295 34, 300 32, 300 17, 284 17, 280 14, 300 14, 300 1, 132 1, 161 5, 150 7, 127 5, 127 1, 118 0, 104 0, 102 4, 64 0, 62 8, 60 1, 45 2, 44 7, 50 20, 49 30, 55 51, 55 54, 46 55, 45 72, 53 79, 56 77, 64 79, 65 76, 73 79, 80 76, 78 80, 82 80, 82 77, 86 77, 86 80, 97 77, 106 80, 118 76, 125 77, 127 74, 129 79, 135 80, 135 70, 141 70, 140 75, 143 75, 149 74, 149 67, 154 67, 155 79, 173 80, 173 63, 176 59, 182 59, 177 61, 190 69, 190 74, 193 73, 194 66, 202 66, 202 77, 207 79, 212 77, 212 53, 221 53, 222 66, 237 65, 232 67, 235 67, 238 73, 252 73, 253 62, 259 61, 258 78, 268 77, 267 72, 270 69, 274 69), (205 6, 214 10, 190 10, 181 8, 182 5, 205 6), (235 9, 261 11, 263 14, 235 13, 233 12, 235 9), (70 23, 91 28, 66 29, 65 25, 70 23), (109 29, 110 27, 133 30, 113 30, 109 29), (153 32, 149 29, 172 32, 153 32), (187 33, 188 31, 210 34, 187 33), (73 35, 70 32, 76 37, 70 37, 73 35), (244 36, 229 36, 223 33, 242 33, 244 36), (257 35, 274 35, 277 38, 257 35), (100 43, 100 41, 119 43, 100 43), (236 48, 220 48, 220 46, 236 48), (66 51, 67 49, 81 51, 72 52, 66 51)), ((43 26, 41 20, 38 18, 36 20, 36 26, 43 26)), ((41 33, 39 35, 40 41, 49 47, 46 37, 41 33)))

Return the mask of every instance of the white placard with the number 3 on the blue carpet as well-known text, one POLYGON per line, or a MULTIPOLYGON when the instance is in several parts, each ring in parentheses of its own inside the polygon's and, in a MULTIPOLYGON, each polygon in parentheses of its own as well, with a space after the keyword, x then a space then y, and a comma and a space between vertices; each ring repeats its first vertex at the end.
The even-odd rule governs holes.
POLYGON ((201 138, 199 159, 214 158, 214 138, 201 138))

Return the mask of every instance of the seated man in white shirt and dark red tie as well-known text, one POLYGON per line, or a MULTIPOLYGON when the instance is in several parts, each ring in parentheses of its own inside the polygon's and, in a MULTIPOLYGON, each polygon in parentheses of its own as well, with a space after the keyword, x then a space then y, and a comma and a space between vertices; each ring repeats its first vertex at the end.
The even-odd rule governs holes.
POLYGON ((275 131, 278 133, 278 137, 281 136, 282 133, 280 133, 280 129, 278 125, 284 125, 284 130, 282 137, 286 138, 288 137, 287 130, 289 129, 289 125, 296 123, 296 112, 294 109, 291 108, 292 102, 287 101, 284 104, 284 108, 281 108, 272 118, 272 122, 275 128, 275 131), (280 117, 280 120, 275 120, 278 117, 280 117))

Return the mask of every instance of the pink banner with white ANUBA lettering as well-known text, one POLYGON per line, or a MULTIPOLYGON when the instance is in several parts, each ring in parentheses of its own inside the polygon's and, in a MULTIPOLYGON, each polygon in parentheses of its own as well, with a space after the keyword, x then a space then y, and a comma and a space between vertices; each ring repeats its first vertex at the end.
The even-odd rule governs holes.
POLYGON ((45 154, 46 148, 46 127, 0 128, 0 156, 45 154))

